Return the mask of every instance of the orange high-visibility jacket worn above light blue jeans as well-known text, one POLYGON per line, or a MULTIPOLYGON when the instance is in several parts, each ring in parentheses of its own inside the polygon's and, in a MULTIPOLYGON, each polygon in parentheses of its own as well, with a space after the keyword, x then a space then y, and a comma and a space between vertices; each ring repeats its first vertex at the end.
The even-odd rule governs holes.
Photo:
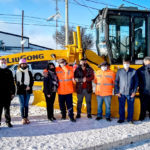
POLYGON ((96 95, 110 96, 113 94, 115 73, 111 70, 98 70, 95 73, 94 82, 96 83, 96 95))

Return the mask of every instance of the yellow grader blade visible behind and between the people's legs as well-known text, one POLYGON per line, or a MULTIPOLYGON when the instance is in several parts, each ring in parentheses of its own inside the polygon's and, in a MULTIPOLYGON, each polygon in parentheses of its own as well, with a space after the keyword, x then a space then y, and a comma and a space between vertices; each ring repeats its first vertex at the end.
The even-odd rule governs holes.
MULTIPOLYGON (((33 105, 46 107, 46 101, 45 101, 45 97, 44 97, 42 90, 34 91, 33 105)), ((77 94, 76 93, 73 93, 73 106, 74 106, 74 111, 76 112, 77 111, 77 94)), ((56 94, 54 107, 55 109, 59 109, 58 94, 56 94)), ((87 107, 86 107, 86 102, 84 98, 83 104, 82 104, 82 113, 86 113, 87 111, 86 108, 87 107)), ((92 114, 96 115, 97 114, 97 100, 96 100, 96 95, 94 93, 92 94, 91 108, 92 108, 92 114)), ((105 115, 105 103, 103 103, 103 115, 105 115)), ((139 115, 140 115, 140 100, 139 98, 135 98, 133 119, 139 120, 139 115)), ((125 105, 125 116, 127 117, 127 102, 125 105)), ((116 96, 113 96, 111 100, 111 117, 114 117, 114 118, 119 117, 119 102, 116 96)))

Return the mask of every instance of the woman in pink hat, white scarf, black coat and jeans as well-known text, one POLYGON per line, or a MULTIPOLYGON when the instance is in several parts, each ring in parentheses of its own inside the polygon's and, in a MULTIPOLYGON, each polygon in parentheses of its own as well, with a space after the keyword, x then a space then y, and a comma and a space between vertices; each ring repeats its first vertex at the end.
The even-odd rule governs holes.
POLYGON ((34 81, 31 71, 28 70, 26 59, 20 59, 15 79, 17 85, 17 94, 20 101, 22 124, 29 124, 29 99, 30 95, 32 94, 32 87, 34 81))

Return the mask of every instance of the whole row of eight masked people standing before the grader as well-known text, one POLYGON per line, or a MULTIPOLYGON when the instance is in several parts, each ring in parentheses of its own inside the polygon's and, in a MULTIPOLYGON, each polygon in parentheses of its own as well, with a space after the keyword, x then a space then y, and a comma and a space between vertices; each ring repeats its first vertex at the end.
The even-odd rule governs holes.
MULTIPOLYGON (((58 92, 59 106, 62 114, 62 120, 68 116, 70 121, 76 122, 76 119, 81 118, 81 108, 83 98, 85 97, 87 105, 87 117, 91 115, 91 99, 94 82, 96 84, 95 94, 97 96, 97 117, 96 120, 103 118, 102 104, 105 101, 105 118, 111 121, 111 99, 112 95, 118 96, 119 100, 119 120, 118 123, 125 121, 125 101, 128 103, 127 121, 133 123, 134 100, 136 92, 139 88, 141 114, 140 120, 144 120, 146 111, 150 114, 150 57, 145 57, 144 64, 137 71, 130 67, 130 59, 123 59, 123 68, 117 73, 110 69, 107 62, 102 62, 100 68, 95 73, 88 65, 86 59, 81 59, 78 66, 68 65, 65 59, 59 59, 59 66, 55 67, 53 63, 49 63, 43 71, 43 92, 46 99, 47 118, 50 121, 56 120, 54 117, 54 101, 56 92, 58 92), (77 92, 77 115, 76 119, 73 113, 73 98, 74 84, 77 92)), ((29 124, 28 105, 33 87, 32 73, 28 70, 25 59, 19 61, 19 66, 15 75, 15 83, 17 94, 20 101, 20 111, 22 124, 29 124)), ((10 103, 15 96, 15 84, 12 72, 7 68, 6 60, 0 60, 0 123, 2 110, 5 110, 6 124, 12 127, 10 118, 10 103)), ((150 117, 150 115, 149 115, 150 117)))

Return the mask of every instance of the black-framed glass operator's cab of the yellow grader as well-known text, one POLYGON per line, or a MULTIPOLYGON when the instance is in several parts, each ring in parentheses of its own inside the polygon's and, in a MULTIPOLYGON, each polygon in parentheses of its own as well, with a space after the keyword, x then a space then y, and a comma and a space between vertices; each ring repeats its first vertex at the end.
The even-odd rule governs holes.
POLYGON ((121 64, 124 56, 132 64, 142 64, 150 56, 150 11, 135 7, 104 8, 93 23, 98 55, 108 56, 111 64, 121 64))

